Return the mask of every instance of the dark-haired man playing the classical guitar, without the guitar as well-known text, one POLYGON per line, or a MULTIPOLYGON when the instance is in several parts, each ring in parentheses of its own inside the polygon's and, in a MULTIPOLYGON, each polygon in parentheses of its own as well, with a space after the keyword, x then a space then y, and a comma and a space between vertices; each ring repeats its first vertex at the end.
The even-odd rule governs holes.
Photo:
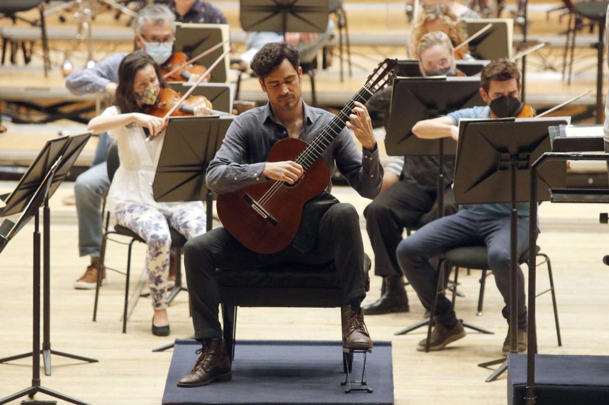
MULTIPOLYGON (((310 143, 334 115, 309 107, 301 98, 302 69, 298 51, 284 43, 265 45, 252 68, 269 103, 242 113, 231 124, 222 146, 209 163, 206 181, 213 191, 237 191, 269 180, 293 184, 303 174, 294 161, 267 162, 270 148, 280 139, 310 143)), ((347 129, 322 153, 330 172, 335 165, 360 195, 373 198, 381 188, 382 167, 368 111, 356 102, 347 129), (356 148, 353 135, 362 144, 356 148)), ((327 191, 331 190, 331 183, 327 191)), ((235 215, 239 215, 235 213, 235 215)), ((355 208, 339 203, 327 192, 305 206, 294 241, 278 253, 249 250, 225 228, 215 228, 185 246, 186 278, 192 304, 195 339, 202 343, 192 372, 178 387, 205 386, 231 378, 218 321, 217 268, 251 270, 282 263, 322 264, 334 261, 343 291, 343 347, 372 347, 365 328, 361 301, 365 297, 364 246, 355 208)))

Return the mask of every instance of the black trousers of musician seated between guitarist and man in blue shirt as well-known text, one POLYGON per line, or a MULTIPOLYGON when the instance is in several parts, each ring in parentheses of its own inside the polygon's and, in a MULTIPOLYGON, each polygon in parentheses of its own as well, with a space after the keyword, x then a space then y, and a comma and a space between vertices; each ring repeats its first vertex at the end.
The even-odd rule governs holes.
MULTIPOLYGON (((446 215, 457 212, 452 187, 444 191, 446 215)), ((437 191, 400 180, 381 192, 364 210, 366 230, 375 252, 375 275, 401 275, 395 255, 404 228, 418 228, 438 217, 437 191)))

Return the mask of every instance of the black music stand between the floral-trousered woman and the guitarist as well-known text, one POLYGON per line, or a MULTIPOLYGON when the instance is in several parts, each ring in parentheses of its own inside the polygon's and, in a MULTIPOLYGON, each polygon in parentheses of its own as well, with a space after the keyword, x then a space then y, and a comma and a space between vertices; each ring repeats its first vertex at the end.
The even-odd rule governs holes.
MULTIPOLYGON (((233 116, 171 117, 158 160, 152 194, 158 202, 203 201, 207 231, 213 228, 213 193, 205 185, 205 171, 220 148, 233 116)), ((180 291, 181 277, 168 300, 180 291)), ((155 348, 165 351, 174 343, 155 348)))

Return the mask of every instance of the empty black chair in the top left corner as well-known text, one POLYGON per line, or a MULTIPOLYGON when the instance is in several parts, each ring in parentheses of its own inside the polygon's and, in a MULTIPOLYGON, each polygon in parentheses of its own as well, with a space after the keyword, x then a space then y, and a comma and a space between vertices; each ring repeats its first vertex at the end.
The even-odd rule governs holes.
MULTIPOLYGON (((46 35, 46 23, 44 21, 43 0, 2 0, 0 1, 0 15, 12 19, 13 23, 17 19, 21 19, 22 21, 32 24, 32 26, 36 26, 38 25, 38 21, 29 21, 17 15, 19 12, 32 10, 35 7, 38 7, 38 10, 40 10, 40 30, 44 60, 44 77, 46 77, 51 69, 51 58, 49 57, 49 41, 46 35)), ((9 38, 2 38, 2 65, 4 65, 6 50, 9 48, 9 45, 11 50, 10 61, 11 63, 15 63, 16 48, 19 46, 19 44, 21 45, 26 64, 30 62, 33 41, 30 43, 30 50, 28 51, 25 41, 19 41, 19 43, 16 43, 9 40, 9 38)))

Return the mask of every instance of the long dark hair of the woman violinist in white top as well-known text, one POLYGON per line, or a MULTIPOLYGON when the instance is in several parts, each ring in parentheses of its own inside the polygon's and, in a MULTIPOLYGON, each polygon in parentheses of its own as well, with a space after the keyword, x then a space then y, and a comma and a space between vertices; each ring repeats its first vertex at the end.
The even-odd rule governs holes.
POLYGON ((116 88, 116 97, 114 99, 114 104, 121 110, 121 113, 141 111, 141 108, 139 108, 138 103, 135 100, 136 96, 133 92, 133 81, 135 80, 135 74, 138 70, 145 68, 147 65, 154 66, 161 88, 166 86, 159 66, 150 55, 143 51, 135 51, 128 54, 122 60, 121 66, 118 68, 118 87, 116 88))

